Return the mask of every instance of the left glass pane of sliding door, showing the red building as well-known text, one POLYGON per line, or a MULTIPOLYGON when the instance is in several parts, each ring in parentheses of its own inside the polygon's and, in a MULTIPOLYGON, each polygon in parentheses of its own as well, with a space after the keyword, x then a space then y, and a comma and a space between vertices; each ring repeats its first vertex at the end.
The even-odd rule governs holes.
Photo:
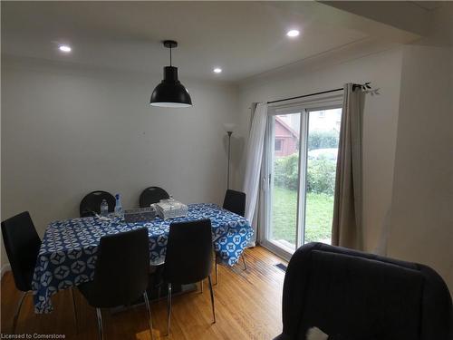
POLYGON ((268 237, 275 246, 294 251, 297 244, 301 113, 276 114, 271 117, 271 123, 268 237))

